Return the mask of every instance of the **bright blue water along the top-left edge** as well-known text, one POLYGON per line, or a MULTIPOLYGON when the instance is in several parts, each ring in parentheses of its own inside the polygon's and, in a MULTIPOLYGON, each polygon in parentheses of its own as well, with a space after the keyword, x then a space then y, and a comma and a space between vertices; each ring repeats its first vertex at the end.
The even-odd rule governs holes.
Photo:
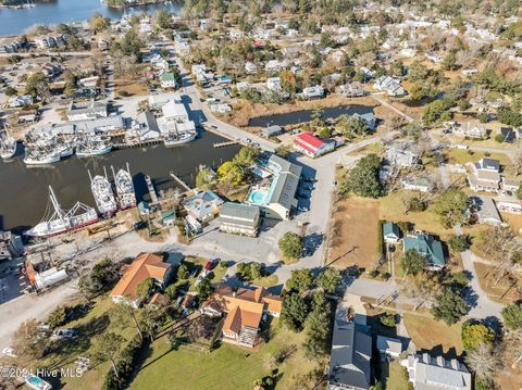
POLYGON ((18 35, 34 25, 87 21, 95 12, 111 18, 119 18, 124 13, 153 13, 159 9, 177 13, 182 8, 183 1, 130 9, 112 9, 105 7, 100 0, 50 0, 26 9, 0 8, 0 35, 18 35))

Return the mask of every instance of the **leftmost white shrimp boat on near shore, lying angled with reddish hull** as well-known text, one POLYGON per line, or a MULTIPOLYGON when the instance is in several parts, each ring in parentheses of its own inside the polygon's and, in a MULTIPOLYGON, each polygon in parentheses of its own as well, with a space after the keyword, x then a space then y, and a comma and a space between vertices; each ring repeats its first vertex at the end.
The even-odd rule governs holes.
POLYGON ((76 202, 70 211, 62 210, 51 186, 49 186, 49 199, 52 205, 52 213, 49 216, 45 216, 38 225, 26 231, 25 235, 50 237, 76 230, 98 222, 96 210, 80 202, 76 202))

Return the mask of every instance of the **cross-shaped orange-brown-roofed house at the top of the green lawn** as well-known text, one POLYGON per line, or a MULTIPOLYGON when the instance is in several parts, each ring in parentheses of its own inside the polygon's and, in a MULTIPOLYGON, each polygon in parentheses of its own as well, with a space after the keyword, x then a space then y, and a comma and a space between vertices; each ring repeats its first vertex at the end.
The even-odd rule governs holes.
POLYGON ((229 286, 221 286, 201 306, 201 313, 210 316, 226 313, 223 341, 253 348, 261 320, 266 314, 278 317, 282 307, 283 299, 262 287, 234 291, 229 286))

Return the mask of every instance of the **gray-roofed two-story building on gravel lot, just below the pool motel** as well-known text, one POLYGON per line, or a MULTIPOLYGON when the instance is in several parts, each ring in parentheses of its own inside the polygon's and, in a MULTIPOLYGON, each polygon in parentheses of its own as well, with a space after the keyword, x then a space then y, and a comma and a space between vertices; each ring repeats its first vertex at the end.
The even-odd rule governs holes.
POLYGON ((220 212, 220 231, 258 236, 261 212, 257 205, 226 202, 220 212))

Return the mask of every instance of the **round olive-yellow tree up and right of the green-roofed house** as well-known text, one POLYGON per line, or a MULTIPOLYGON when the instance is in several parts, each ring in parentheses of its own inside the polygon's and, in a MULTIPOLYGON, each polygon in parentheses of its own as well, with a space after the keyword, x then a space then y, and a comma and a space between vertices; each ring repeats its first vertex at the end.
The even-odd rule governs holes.
POLYGON ((468 196, 463 191, 450 187, 437 198, 433 210, 439 216, 440 223, 450 228, 465 222, 467 209, 468 196))

